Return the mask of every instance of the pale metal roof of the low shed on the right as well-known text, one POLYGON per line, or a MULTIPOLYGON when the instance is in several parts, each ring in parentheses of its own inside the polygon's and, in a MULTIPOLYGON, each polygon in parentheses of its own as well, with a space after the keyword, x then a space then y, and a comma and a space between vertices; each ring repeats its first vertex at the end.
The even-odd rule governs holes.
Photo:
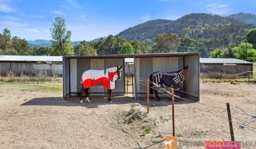
POLYGON ((201 64, 253 64, 241 59, 200 58, 201 64))

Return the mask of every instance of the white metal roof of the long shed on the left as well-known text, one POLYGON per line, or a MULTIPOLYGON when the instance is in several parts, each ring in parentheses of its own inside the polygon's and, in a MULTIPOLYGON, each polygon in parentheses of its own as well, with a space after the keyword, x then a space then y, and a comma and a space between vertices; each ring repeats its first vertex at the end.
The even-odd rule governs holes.
POLYGON ((0 61, 62 62, 62 56, 0 56, 0 61))

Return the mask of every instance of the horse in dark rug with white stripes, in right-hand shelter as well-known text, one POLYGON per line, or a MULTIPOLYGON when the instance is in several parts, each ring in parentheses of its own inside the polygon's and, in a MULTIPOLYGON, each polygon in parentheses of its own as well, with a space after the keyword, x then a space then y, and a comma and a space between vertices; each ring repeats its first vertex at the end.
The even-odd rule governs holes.
POLYGON ((184 79, 188 76, 188 66, 183 67, 181 70, 164 73, 161 71, 150 74, 150 94, 155 92, 156 99, 161 100, 158 96, 158 89, 160 87, 179 87, 184 79))

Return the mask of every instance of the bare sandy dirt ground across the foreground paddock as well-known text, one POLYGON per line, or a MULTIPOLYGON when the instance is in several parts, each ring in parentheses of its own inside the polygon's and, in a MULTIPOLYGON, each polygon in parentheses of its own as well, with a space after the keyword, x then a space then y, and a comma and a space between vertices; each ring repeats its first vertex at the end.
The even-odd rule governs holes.
MULTIPOLYGON (((115 97, 111 104, 106 98, 90 98, 91 103, 79 104, 78 98, 62 101, 59 94, 3 88, 0 148, 163 148, 163 142, 156 143, 172 134, 169 100, 151 100, 154 106, 145 114, 143 98, 135 102, 115 97), (128 124, 131 105, 143 117, 128 124), (143 126, 151 128, 144 136, 143 126)), ((256 85, 200 83, 200 103, 175 101, 175 135, 186 142, 179 148, 204 148, 197 143, 204 140, 230 140, 226 102, 231 107, 235 140, 256 141, 256 122, 249 116, 256 114, 256 85), (249 124, 240 129, 240 123, 249 124)))

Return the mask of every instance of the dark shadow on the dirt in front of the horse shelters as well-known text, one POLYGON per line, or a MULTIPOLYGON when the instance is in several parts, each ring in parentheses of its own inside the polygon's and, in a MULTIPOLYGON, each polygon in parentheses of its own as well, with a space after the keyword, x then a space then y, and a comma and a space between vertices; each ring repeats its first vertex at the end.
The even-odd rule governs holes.
MULTIPOLYGON (((150 106, 168 106, 172 102, 169 98, 162 98, 163 101, 156 101, 155 99, 150 99, 150 106)), ((85 101, 85 100, 84 100, 85 101)), ((139 103, 142 106, 147 106, 147 100, 145 98, 137 98, 137 101, 130 96, 115 96, 112 97, 112 103, 108 102, 108 98, 102 96, 90 97, 90 103, 79 103, 78 96, 72 96, 67 98, 67 100, 62 100, 62 97, 43 97, 43 98, 33 98, 26 103, 21 104, 21 106, 82 106, 87 108, 97 108, 100 105, 107 104, 132 104, 139 103)), ((185 104, 185 102, 175 101, 175 104, 185 104)))

